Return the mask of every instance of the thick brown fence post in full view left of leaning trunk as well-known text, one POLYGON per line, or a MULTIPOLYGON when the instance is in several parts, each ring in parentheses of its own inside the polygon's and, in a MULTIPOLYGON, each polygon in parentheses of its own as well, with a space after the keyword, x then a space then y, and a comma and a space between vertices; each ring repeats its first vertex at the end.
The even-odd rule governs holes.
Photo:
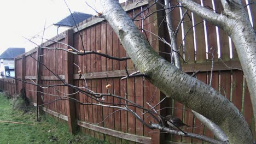
MULTIPOLYGON (((73 46, 73 29, 68 29, 65 38, 66 44, 73 46)), ((68 47, 67 47, 68 49, 68 47)), ((74 84, 73 80, 73 54, 65 53, 65 81, 71 85, 74 84)), ((65 87, 65 93, 73 93, 74 89, 71 87, 65 87)), ((68 95, 68 97, 74 98, 74 95, 68 95)), ((75 104, 74 101, 66 101, 66 110, 68 116, 68 128, 70 133, 74 134, 77 128, 76 116, 75 116, 75 104)))

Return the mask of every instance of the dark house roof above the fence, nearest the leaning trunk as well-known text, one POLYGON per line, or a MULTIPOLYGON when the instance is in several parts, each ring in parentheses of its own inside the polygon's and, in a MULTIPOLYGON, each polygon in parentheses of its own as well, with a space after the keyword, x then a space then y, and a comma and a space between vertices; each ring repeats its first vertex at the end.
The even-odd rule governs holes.
MULTIPOLYGON (((80 12, 74 12, 74 13, 72 13, 72 15, 74 17, 75 23, 77 23, 77 24, 79 22, 82 22, 82 21, 84 21, 84 20, 86 20, 86 19, 88 19, 89 17, 92 16, 90 14, 85 14, 85 13, 80 13, 80 12)), ((75 26, 72 15, 69 15, 65 19, 63 19, 63 20, 61 20, 57 23, 54 23, 54 25, 56 25, 56 26, 67 26, 67 27, 75 26)))

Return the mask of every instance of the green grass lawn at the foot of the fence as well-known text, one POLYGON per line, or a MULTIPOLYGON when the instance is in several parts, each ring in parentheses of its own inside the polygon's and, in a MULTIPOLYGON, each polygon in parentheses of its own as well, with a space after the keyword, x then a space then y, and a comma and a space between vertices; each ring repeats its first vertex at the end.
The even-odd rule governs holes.
POLYGON ((0 93, 0 121, 20 122, 14 124, 0 122, 0 143, 106 143, 93 137, 78 133, 71 135, 66 123, 44 115, 36 122, 32 109, 20 106, 22 100, 8 100, 0 93), (33 125, 28 125, 33 124, 33 125))

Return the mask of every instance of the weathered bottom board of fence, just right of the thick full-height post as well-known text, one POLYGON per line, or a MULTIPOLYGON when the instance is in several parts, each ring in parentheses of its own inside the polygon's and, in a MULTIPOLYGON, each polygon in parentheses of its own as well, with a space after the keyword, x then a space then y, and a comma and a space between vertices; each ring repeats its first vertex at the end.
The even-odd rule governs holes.
POLYGON ((108 128, 103 128, 98 125, 78 121, 77 124, 80 127, 84 127, 87 129, 99 131, 100 133, 107 134, 110 136, 115 136, 119 137, 121 139, 129 140, 129 141, 134 141, 134 142, 139 142, 139 143, 151 143, 151 138, 146 137, 146 136, 138 136, 138 135, 132 135, 129 133, 123 133, 121 131, 113 130, 113 129, 108 129, 108 128))

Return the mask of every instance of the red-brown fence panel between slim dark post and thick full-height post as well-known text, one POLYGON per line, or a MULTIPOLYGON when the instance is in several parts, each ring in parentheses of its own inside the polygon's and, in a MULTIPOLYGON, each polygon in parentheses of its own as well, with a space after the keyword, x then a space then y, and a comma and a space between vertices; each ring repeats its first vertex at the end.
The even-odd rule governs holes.
MULTIPOLYGON (((65 33, 62 33, 65 34, 65 33)), ((57 39, 57 38, 56 38, 57 39)), ((57 39, 60 43, 53 43, 48 45, 48 47, 60 47, 63 49, 67 49, 65 45, 61 43, 66 43, 65 38, 63 39, 57 39)), ((59 50, 53 50, 53 49, 43 49, 43 57, 42 57, 42 63, 45 64, 45 66, 49 69, 46 69, 42 65, 42 72, 40 71, 40 74, 42 74, 42 83, 45 85, 61 85, 62 82, 54 76, 53 73, 63 77, 65 74, 64 68, 65 68, 65 52, 59 51, 59 50), (53 71, 53 73, 50 72, 53 71)), ((59 96, 66 96, 65 95, 65 89, 63 89, 62 86, 57 87, 49 87, 49 88, 43 88, 43 102, 44 104, 50 103, 51 101, 55 101, 54 103, 50 103, 45 105, 47 109, 61 113, 62 115, 67 115, 65 103, 64 100, 59 100, 61 97, 59 96), (55 96, 53 96, 55 95, 55 96)))

